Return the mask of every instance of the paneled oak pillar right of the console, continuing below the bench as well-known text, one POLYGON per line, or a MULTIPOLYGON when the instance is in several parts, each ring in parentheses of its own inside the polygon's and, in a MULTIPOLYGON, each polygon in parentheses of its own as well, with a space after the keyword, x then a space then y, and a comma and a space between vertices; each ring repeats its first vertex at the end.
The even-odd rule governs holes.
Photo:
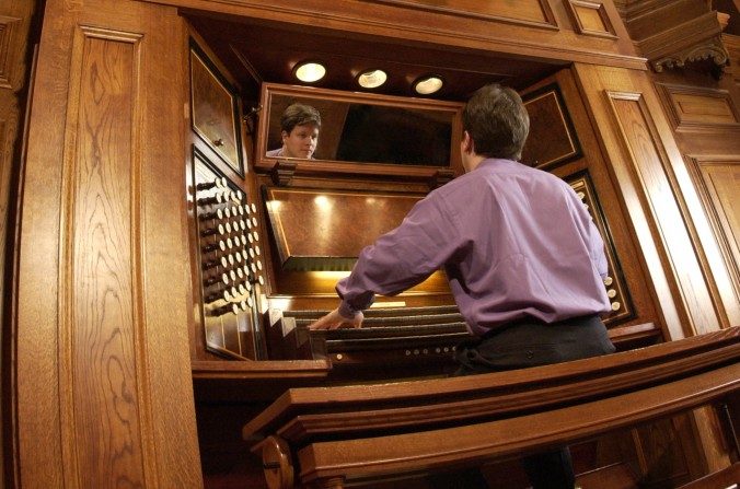
MULTIPOLYGON (((648 73, 590 65, 576 65, 575 72, 641 251, 666 340, 720 329, 737 304, 722 302, 702 260, 717 252, 702 251, 697 240, 696 230, 707 223, 687 211, 697 196, 648 73)), ((687 461, 698 471, 693 476, 728 466, 713 410, 697 409, 691 419, 692 427, 674 421, 674 429, 686 453, 701 458, 687 461)))

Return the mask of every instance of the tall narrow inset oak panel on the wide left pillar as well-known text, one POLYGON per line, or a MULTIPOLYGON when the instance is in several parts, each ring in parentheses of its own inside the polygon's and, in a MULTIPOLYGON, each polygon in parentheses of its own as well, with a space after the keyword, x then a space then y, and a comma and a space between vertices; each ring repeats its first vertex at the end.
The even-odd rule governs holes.
POLYGON ((138 36, 78 31, 72 80, 79 105, 70 106, 66 178, 67 248, 62 326, 71 350, 71 393, 63 409, 72 422, 76 464, 84 487, 144 485, 140 406, 135 359, 138 307, 132 249, 138 234, 131 203, 135 181, 132 129, 138 36), (128 37, 128 38, 126 38, 128 37), (91 260, 93 256, 95 259, 91 260), (111 416, 108 406, 115 406, 111 416))

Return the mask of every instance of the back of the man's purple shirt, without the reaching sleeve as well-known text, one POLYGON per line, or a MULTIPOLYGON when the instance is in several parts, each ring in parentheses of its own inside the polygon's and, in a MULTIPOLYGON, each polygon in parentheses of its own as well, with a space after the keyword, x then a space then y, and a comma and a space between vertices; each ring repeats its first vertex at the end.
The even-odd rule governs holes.
POLYGON ((608 311, 603 242, 566 183, 485 160, 437 194, 451 236, 464 243, 446 271, 473 333, 524 316, 551 323, 608 311))

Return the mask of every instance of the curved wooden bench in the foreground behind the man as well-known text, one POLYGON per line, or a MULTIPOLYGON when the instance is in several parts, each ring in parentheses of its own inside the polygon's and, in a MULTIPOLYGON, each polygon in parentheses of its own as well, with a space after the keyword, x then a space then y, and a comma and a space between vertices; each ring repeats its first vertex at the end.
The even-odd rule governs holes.
POLYGON ((707 405, 740 386, 740 328, 608 357, 287 391, 243 428, 270 488, 481 465, 707 405))

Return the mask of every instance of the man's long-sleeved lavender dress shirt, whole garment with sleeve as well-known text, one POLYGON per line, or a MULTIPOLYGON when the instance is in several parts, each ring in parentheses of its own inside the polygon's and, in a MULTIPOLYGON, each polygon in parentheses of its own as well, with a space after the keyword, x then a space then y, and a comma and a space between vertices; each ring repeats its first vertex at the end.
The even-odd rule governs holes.
POLYGON ((339 313, 352 317, 441 267, 476 336, 610 311, 604 244, 583 203, 560 178, 513 161, 484 160, 362 249, 336 286, 339 313))

